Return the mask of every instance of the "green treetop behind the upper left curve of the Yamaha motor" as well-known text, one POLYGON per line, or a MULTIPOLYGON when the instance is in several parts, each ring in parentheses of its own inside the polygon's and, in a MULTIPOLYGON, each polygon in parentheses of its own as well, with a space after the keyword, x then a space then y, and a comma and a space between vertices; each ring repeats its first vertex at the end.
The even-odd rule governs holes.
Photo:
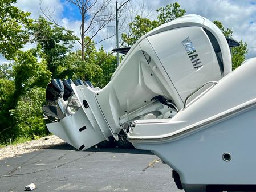
POLYGON ((180 8, 180 5, 176 2, 166 5, 156 10, 157 20, 151 21, 147 18, 142 18, 139 15, 129 23, 128 34, 122 34, 122 40, 125 45, 132 46, 141 36, 151 31, 153 28, 160 26, 166 22, 172 21, 178 17, 181 17, 186 13, 184 9, 180 8))

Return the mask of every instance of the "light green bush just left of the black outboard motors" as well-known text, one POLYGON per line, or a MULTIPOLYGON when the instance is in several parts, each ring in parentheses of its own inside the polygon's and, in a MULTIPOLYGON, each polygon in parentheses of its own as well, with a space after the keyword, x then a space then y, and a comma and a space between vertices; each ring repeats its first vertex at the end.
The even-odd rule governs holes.
POLYGON ((14 129, 19 136, 32 139, 36 136, 46 136, 47 130, 41 109, 43 104, 45 104, 44 88, 27 89, 19 98, 15 109, 10 111, 17 122, 14 129))

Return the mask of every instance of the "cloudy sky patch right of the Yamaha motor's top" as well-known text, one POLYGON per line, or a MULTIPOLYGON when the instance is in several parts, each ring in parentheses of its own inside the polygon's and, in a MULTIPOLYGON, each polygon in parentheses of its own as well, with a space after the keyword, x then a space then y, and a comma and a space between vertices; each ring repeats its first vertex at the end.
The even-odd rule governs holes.
MULTIPOLYGON (((174 1, 172 1, 173 3, 174 1)), ((256 1, 218 0, 218 1, 177 1, 186 14, 198 14, 211 21, 220 21, 225 28, 233 30, 233 38, 247 43, 247 58, 256 56, 256 1), (254 24, 255 23, 255 24, 254 24)), ((167 4, 167 3, 166 3, 167 4)))

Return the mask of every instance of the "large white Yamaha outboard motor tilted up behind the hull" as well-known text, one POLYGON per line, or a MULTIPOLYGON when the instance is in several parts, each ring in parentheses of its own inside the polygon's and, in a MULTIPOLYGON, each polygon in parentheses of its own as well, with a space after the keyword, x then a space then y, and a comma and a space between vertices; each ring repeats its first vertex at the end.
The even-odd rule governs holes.
POLYGON ((208 19, 186 15, 141 37, 103 89, 71 84, 80 108, 47 128, 79 150, 109 136, 118 140, 134 120, 172 118, 190 93, 230 72, 222 32, 208 19))

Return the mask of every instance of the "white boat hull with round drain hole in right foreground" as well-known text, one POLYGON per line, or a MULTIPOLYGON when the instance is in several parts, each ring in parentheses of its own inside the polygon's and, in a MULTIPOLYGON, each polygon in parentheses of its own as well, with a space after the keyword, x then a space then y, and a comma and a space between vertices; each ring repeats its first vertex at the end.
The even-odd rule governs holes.
POLYGON ((256 58, 168 122, 136 121, 128 133, 136 148, 151 150, 177 171, 185 191, 255 185, 255 136, 256 58))

